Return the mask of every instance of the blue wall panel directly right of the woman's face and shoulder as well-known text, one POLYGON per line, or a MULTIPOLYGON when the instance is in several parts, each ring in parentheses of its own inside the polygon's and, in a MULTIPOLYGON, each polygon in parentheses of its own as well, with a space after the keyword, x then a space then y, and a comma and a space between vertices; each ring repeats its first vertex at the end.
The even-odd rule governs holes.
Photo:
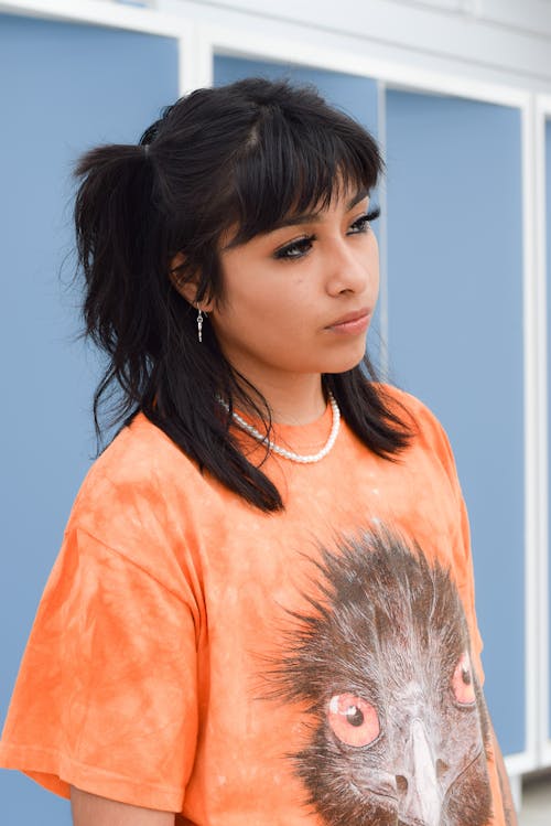
POLYGON ((446 428, 467 502, 486 697, 525 749, 520 114, 387 97, 392 375, 446 428))

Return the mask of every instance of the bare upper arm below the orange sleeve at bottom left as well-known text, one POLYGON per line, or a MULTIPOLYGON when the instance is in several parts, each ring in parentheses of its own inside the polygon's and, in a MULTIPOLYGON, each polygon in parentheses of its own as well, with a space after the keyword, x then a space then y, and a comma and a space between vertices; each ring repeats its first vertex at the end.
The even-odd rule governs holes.
POLYGON ((71 786, 74 826, 174 826, 172 812, 129 806, 71 786))

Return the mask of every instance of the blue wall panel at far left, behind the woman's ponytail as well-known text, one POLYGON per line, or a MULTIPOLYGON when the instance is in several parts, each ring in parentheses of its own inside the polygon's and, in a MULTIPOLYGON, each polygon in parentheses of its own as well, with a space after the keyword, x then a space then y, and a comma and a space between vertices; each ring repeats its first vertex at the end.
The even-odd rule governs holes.
MULTIPOLYGON (((172 39, 0 15, 0 723, 95 452, 97 364, 74 343, 78 293, 67 288, 74 268, 71 168, 98 142, 136 142, 176 97, 172 39)), ((6 826, 69 823, 66 802, 15 772, 0 772, 0 795, 6 826)))

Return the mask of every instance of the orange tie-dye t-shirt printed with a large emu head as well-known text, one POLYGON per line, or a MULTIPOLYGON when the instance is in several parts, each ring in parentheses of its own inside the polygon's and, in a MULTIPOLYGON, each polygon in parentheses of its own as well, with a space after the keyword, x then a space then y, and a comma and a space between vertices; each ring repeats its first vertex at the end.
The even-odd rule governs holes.
POLYGON ((343 422, 317 463, 270 455, 271 514, 138 415, 75 501, 0 764, 197 826, 504 826, 453 457, 391 393, 411 446, 380 459, 343 422))

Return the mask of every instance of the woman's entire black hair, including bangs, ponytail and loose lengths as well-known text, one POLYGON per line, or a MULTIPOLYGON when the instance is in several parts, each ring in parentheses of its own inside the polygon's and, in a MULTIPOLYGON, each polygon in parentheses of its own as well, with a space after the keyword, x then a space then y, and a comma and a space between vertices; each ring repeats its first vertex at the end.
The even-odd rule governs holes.
MULTIPOLYGON (((268 435, 269 407, 209 324, 197 342, 196 310, 174 282, 196 283, 197 302, 219 299, 225 232, 237 227, 233 244, 244 244, 289 214, 323 208, 339 186, 369 192, 382 169, 372 137, 314 88, 261 78, 197 89, 166 107, 140 144, 88 151, 75 171, 75 224, 86 333, 108 356, 94 396, 98 440, 106 401, 110 425, 142 410, 202 471, 262 511, 282 508, 230 428, 239 406, 268 435)), ((376 379, 366 356, 323 384, 361 441, 391 459, 410 433, 376 379)))

